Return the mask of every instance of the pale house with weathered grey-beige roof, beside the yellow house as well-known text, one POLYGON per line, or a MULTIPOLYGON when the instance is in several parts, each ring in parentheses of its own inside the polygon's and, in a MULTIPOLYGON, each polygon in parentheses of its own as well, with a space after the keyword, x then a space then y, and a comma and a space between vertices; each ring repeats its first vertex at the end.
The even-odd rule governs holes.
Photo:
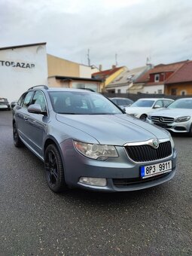
POLYGON ((120 75, 117 75, 117 78, 114 78, 114 80, 105 87, 105 90, 108 93, 134 93, 134 81, 136 81, 139 76, 147 72, 148 69, 149 66, 139 67, 131 70, 125 68, 120 75))

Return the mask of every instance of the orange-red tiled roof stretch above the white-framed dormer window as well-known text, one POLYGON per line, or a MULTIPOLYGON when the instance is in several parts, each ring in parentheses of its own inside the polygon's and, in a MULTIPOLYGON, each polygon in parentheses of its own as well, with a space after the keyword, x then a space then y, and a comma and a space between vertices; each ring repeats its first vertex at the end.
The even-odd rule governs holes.
POLYGON ((150 69, 148 72, 146 72, 140 78, 138 78, 135 83, 139 84, 139 83, 148 82, 150 74, 158 74, 158 73, 163 73, 163 72, 175 72, 176 70, 180 69, 181 66, 184 66, 184 64, 187 61, 188 60, 184 60, 181 62, 175 62, 175 63, 170 63, 170 64, 160 64, 160 65, 154 66, 153 69, 150 69))

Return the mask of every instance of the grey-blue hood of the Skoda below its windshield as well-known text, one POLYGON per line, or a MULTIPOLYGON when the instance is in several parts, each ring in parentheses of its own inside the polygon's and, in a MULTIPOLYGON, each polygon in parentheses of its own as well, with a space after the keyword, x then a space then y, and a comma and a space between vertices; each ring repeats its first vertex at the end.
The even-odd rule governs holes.
MULTIPOLYGON (((126 114, 56 114, 56 119, 87 133, 103 145, 169 138, 165 130, 126 114)), ((75 138, 78 138, 77 134, 75 138)))

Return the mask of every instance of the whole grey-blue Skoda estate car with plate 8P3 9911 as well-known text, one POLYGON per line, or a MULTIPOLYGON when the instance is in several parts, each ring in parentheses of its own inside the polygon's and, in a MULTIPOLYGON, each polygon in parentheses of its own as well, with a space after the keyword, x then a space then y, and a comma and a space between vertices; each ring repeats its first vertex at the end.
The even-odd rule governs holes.
POLYGON ((169 132, 88 90, 30 88, 13 110, 13 135, 16 147, 24 144, 44 161, 54 192, 140 190, 175 175, 169 132))

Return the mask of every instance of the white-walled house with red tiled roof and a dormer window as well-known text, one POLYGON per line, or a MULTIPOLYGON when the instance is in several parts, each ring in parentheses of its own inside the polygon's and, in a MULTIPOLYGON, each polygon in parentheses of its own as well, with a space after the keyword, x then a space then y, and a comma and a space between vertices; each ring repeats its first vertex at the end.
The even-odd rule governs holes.
POLYGON ((165 93, 166 80, 173 75, 187 60, 170 64, 160 64, 154 66, 140 78, 135 81, 135 85, 139 86, 140 93, 165 93))

